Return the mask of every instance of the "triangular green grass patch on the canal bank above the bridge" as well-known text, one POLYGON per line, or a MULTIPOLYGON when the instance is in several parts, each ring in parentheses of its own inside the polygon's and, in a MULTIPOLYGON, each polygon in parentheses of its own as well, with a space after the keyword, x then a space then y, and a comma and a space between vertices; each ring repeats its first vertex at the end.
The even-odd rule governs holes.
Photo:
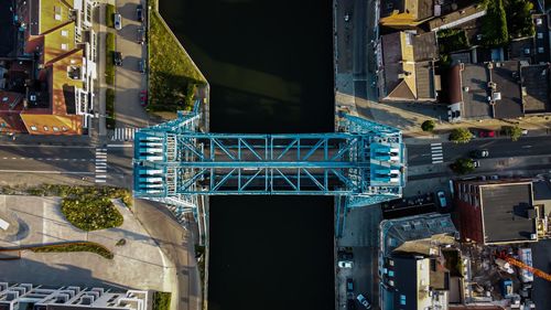
POLYGON ((156 11, 150 14, 149 104, 151 111, 191 109, 196 85, 204 85, 190 56, 171 35, 156 11))

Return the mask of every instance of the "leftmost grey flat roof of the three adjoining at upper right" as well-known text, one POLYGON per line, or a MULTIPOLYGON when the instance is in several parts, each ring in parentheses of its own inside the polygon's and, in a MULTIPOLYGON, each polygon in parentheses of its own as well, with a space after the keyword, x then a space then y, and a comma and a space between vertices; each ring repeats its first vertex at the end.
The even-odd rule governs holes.
POLYGON ((461 72, 463 89, 463 117, 487 119, 493 117, 488 104, 489 72, 484 64, 465 64, 461 72))

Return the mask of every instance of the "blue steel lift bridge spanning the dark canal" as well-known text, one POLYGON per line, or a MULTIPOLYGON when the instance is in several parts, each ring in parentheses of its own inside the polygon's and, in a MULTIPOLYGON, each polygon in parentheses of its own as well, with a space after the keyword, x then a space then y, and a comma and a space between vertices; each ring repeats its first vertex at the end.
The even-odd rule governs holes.
POLYGON ((215 133, 201 131, 201 118, 196 103, 136 132, 136 197, 180 214, 201 195, 334 195, 337 218, 401 197, 406 148, 393 127, 341 114, 336 132, 215 133))

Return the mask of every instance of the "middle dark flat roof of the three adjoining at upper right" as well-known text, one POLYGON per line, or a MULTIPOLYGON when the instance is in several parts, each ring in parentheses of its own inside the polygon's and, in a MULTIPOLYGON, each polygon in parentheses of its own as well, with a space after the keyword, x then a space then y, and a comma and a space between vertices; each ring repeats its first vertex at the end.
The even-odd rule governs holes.
POLYGON ((520 73, 517 61, 494 64, 491 81, 496 83, 496 93, 501 99, 494 106, 496 118, 516 118, 523 116, 520 97, 520 73))

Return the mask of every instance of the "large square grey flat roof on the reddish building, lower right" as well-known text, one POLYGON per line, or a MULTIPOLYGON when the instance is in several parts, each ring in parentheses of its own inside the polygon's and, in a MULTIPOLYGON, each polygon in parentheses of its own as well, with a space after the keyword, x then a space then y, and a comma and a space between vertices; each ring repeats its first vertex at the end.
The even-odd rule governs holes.
POLYGON ((529 242, 536 234, 532 209, 532 183, 480 185, 485 243, 529 242))

